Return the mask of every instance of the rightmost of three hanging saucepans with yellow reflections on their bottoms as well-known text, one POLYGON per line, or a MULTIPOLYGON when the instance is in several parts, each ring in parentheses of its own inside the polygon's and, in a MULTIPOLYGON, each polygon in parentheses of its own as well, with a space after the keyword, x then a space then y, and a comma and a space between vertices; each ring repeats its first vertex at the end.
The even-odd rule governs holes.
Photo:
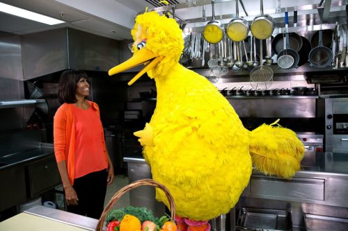
POLYGON ((271 16, 264 15, 262 0, 260 1, 260 11, 261 14, 256 16, 251 23, 251 33, 258 40, 265 40, 273 33, 275 22, 271 16))

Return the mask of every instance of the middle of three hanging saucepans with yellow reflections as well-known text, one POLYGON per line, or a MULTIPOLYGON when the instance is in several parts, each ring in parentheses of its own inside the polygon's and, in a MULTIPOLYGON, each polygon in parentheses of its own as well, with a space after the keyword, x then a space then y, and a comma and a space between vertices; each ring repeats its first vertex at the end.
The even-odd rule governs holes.
POLYGON ((236 17, 228 23, 227 35, 232 41, 242 42, 248 36, 249 23, 246 19, 239 17, 238 4, 239 0, 236 1, 236 17))

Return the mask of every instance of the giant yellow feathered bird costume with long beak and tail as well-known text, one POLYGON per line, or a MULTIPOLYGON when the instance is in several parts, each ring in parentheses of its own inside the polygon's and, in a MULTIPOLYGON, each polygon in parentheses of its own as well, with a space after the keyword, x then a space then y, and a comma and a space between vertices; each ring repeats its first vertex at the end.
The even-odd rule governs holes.
MULTIPOLYGON (((283 178, 300 169, 304 147, 292 130, 277 121, 247 130, 207 78, 180 65, 184 41, 175 19, 145 12, 136 17, 132 37, 134 55, 109 75, 145 64, 129 85, 145 72, 155 79, 155 112, 134 135, 152 178, 171 191, 180 230, 209 230, 209 219, 228 213, 248 185, 252 164, 283 178)), ((168 206, 158 189, 157 199, 168 206)))

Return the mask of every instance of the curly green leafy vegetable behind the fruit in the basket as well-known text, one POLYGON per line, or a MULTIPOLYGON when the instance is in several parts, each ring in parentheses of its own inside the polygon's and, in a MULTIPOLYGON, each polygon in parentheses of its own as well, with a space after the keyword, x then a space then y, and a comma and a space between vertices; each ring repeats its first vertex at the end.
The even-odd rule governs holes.
POLYGON ((159 220, 152 214, 152 211, 150 209, 147 209, 145 207, 129 206, 125 209, 112 209, 109 214, 106 215, 106 224, 108 224, 110 221, 115 220, 122 221, 125 214, 136 216, 141 223, 143 223, 144 221, 152 221, 157 224, 159 222, 159 220))

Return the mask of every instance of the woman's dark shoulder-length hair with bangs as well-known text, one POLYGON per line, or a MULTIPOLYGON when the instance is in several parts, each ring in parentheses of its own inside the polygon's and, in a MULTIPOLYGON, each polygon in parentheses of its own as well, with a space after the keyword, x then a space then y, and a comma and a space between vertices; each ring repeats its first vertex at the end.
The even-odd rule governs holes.
POLYGON ((81 78, 88 79, 85 71, 66 70, 61 74, 58 83, 58 101, 59 103, 75 103, 77 101, 76 85, 81 78))

